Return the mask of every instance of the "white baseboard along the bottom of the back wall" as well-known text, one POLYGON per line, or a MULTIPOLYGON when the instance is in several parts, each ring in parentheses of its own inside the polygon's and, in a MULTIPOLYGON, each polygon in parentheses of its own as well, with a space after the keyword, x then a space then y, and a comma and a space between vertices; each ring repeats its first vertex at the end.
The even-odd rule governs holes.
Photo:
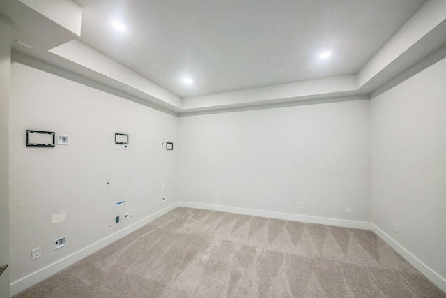
POLYGON ((344 227, 344 228, 356 228, 356 229, 364 229, 364 230, 370 230, 370 228, 371 228, 370 223, 367 223, 365 221, 348 221, 345 219, 337 219, 337 218, 306 216, 306 215, 300 215, 300 214, 290 214, 290 213, 282 213, 282 212, 274 212, 274 211, 246 209, 246 208, 229 207, 229 206, 214 205, 214 204, 201 204, 201 203, 192 203, 192 202, 178 202, 178 206, 196 208, 196 209, 206 209, 206 210, 213 210, 213 211, 223 211, 223 212, 229 212, 229 213, 235 213, 235 214, 245 214, 245 215, 252 215, 252 216, 277 218, 277 219, 284 219, 286 221, 301 221, 304 223, 321 223, 322 225, 334 225, 337 227, 344 227))

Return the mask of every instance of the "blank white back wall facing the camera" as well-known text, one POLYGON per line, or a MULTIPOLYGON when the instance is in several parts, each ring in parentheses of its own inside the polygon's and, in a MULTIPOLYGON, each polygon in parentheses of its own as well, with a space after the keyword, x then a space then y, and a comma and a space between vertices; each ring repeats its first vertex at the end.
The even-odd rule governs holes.
POLYGON ((370 221, 369 100, 180 117, 180 144, 184 202, 370 221))

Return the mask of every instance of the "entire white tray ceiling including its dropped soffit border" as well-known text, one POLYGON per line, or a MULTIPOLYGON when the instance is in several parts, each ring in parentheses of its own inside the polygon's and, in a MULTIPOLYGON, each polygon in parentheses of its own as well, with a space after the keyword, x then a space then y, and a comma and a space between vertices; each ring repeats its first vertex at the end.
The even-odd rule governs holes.
POLYGON ((445 0, 1 0, 0 15, 13 59, 174 114, 369 98, 446 45, 445 0))

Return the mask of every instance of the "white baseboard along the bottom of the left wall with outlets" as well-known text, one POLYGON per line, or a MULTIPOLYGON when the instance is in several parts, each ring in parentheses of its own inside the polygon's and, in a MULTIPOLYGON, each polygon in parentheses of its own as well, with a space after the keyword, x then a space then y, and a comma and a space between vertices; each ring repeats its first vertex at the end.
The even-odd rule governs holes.
POLYGON ((128 227, 125 227, 122 230, 115 232, 114 234, 111 234, 103 239, 100 239, 99 241, 89 246, 86 246, 85 248, 82 248, 80 251, 72 253, 71 255, 68 255, 67 257, 57 262, 54 262, 53 264, 48 265, 47 267, 44 267, 36 272, 33 272, 32 274, 29 274, 24 278, 20 278, 18 281, 14 281, 13 283, 10 284, 10 295, 11 296, 16 295, 22 292, 23 290, 26 290, 27 288, 31 287, 31 285, 35 285, 36 283, 43 281, 45 278, 48 278, 49 276, 56 274, 62 269, 65 269, 66 267, 74 264, 75 262, 82 260, 83 258, 91 255, 95 251, 99 251, 101 248, 104 248, 105 246, 112 244, 114 241, 121 239, 122 237, 130 234, 131 232, 134 232, 135 230, 138 230, 139 228, 150 223, 156 218, 163 216, 164 214, 167 214, 167 212, 174 210, 176 207, 178 207, 178 202, 174 202, 173 204, 165 207, 164 209, 161 209, 160 211, 157 211, 154 214, 151 214, 146 218, 143 218, 140 221, 137 221, 136 223, 133 223, 132 225, 129 225, 128 227))

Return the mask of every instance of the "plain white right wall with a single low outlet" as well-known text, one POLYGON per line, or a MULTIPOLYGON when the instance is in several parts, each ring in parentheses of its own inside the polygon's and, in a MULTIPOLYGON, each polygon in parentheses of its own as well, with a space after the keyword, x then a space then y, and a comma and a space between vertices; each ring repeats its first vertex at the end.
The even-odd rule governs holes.
POLYGON ((445 78, 443 59, 371 100, 371 223, 436 271, 443 283, 445 78))

